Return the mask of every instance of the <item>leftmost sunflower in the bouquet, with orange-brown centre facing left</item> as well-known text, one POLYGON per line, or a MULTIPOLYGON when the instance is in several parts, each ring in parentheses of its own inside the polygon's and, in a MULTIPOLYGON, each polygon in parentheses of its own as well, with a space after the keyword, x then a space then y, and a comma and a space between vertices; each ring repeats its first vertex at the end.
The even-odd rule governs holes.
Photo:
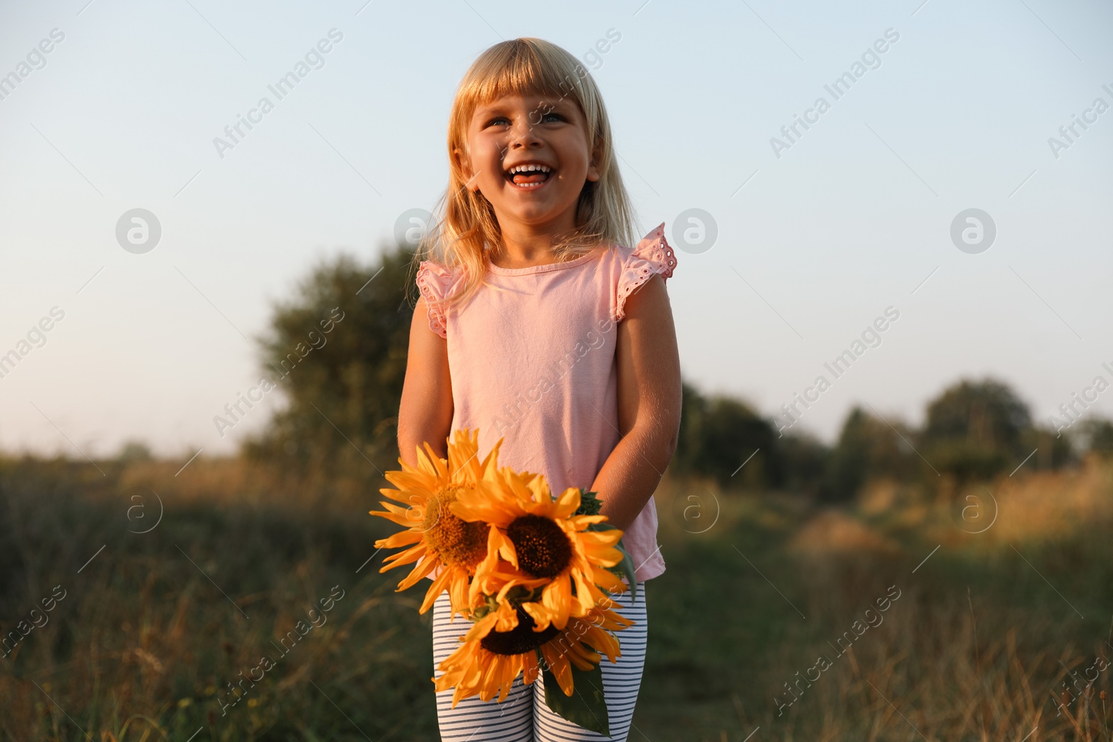
MULTIPOLYGON (((467 606, 469 577, 487 556, 487 526, 462 521, 453 514, 451 505, 462 495, 474 492, 484 478, 496 482, 494 475, 501 443, 501 439, 495 443, 481 462, 477 458, 479 431, 456 431, 449 441, 447 461, 439 457, 426 443, 424 452, 417 447, 416 467, 400 458, 402 471, 385 474, 397 489, 384 488, 380 492, 405 507, 381 502, 386 509, 370 513, 406 526, 406 530, 380 538, 375 546, 408 548, 387 556, 380 572, 416 562, 410 574, 398 583, 397 590, 403 591, 443 565, 425 593, 420 613, 425 613, 445 590, 452 600, 453 615, 467 606)), ((487 491, 492 488, 485 487, 487 491)))

